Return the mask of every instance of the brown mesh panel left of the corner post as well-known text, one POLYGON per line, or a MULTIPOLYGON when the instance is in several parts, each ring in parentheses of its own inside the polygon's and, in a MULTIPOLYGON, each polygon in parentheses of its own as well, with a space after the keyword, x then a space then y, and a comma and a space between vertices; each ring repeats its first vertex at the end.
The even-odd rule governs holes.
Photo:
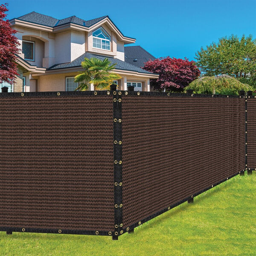
POLYGON ((0 98, 0 227, 111 231, 112 96, 0 98))

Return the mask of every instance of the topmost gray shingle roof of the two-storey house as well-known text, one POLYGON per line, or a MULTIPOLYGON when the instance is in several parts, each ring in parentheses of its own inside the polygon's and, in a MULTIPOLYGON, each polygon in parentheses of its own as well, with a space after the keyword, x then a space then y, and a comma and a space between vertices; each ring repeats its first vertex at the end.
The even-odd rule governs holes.
POLYGON ((60 26, 63 24, 67 24, 67 23, 75 23, 81 26, 86 26, 86 27, 90 27, 93 24, 99 22, 100 20, 105 19, 108 16, 102 16, 93 20, 82 20, 76 16, 71 16, 71 17, 67 17, 65 19, 62 20, 58 20, 55 19, 53 17, 47 16, 47 15, 43 15, 37 12, 30 12, 26 15, 20 16, 17 19, 18 20, 25 20, 25 21, 29 21, 32 23, 37 23, 37 24, 41 24, 44 26, 50 26, 50 27, 56 27, 56 26, 60 26))

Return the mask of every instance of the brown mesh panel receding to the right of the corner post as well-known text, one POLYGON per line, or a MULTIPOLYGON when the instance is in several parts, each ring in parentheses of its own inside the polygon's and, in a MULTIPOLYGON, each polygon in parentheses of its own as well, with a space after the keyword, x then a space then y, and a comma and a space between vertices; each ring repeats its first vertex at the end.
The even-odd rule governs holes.
POLYGON ((244 169, 244 99, 123 96, 123 224, 244 169))

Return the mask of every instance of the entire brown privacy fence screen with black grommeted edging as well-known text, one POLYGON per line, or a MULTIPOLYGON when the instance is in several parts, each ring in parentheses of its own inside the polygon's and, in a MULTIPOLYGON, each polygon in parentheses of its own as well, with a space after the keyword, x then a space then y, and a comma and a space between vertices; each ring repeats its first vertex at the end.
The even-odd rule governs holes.
POLYGON ((117 239, 243 173, 247 154, 255 168, 254 110, 244 96, 2 93, 0 230, 117 239))

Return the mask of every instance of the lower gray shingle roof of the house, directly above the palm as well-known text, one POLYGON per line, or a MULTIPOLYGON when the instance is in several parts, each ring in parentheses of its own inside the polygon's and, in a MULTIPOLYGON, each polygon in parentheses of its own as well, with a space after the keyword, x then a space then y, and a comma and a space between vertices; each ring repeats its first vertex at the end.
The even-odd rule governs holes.
POLYGON ((152 74, 151 72, 148 72, 146 70, 141 69, 140 67, 136 67, 132 64, 129 64, 125 61, 121 61, 117 58, 112 58, 112 57, 105 57, 102 55, 95 55, 91 54, 89 52, 85 52, 75 60, 69 62, 69 63, 62 63, 62 64, 55 64, 52 67, 49 67, 48 70, 56 70, 56 69, 62 69, 62 68, 70 68, 70 67, 81 67, 81 61, 84 61, 84 58, 99 58, 101 60, 104 60, 105 58, 108 58, 109 61, 111 61, 112 64, 116 63, 116 69, 118 70, 129 70, 129 71, 135 71, 139 73, 146 73, 146 74, 152 74))

